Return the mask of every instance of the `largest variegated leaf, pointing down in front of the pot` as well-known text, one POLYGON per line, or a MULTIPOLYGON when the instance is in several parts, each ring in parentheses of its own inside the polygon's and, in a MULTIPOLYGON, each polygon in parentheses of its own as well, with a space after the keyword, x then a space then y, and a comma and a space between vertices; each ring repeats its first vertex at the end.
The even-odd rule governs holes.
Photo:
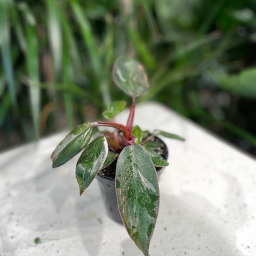
POLYGON ((148 256, 158 215, 159 188, 156 170, 142 145, 126 146, 116 164, 116 195, 126 229, 148 256))

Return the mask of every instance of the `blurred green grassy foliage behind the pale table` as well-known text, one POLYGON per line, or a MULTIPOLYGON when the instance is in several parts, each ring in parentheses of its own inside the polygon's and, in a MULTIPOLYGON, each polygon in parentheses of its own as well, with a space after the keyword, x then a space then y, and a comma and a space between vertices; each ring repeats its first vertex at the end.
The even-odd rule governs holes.
POLYGON ((2 0, 0 148, 71 129, 124 99, 110 74, 127 55, 150 77, 141 101, 256 155, 255 43, 254 0, 2 0))

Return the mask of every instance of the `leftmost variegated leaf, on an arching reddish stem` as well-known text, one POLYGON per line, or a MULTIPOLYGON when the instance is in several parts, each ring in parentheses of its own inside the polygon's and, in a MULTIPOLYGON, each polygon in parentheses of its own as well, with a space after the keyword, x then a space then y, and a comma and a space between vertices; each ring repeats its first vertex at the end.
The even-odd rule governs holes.
POLYGON ((91 136, 92 127, 90 126, 90 122, 84 122, 84 124, 72 130, 64 140, 58 144, 54 153, 52 153, 52 167, 61 166, 73 158, 73 156, 78 154, 89 143, 91 136))

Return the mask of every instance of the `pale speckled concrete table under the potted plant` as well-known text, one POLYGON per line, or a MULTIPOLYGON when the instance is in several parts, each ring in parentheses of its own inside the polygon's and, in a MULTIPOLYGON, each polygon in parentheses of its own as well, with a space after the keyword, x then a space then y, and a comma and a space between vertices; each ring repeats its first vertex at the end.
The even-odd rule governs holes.
MULTIPOLYGON (((150 255, 256 255, 255 160, 157 103, 139 105, 135 124, 186 138, 166 139, 170 165, 159 180, 150 255)), ((52 169, 65 135, 0 154, 0 256, 142 255, 106 216, 96 180, 79 196, 78 156, 52 169)))

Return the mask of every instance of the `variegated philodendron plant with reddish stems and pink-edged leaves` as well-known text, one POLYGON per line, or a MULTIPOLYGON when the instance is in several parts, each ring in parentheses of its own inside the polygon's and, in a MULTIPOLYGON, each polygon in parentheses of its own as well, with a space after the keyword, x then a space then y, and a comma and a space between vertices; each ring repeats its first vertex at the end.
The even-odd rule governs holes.
MULTIPOLYGON (((159 209, 159 188, 156 167, 168 165, 157 153, 156 135, 184 140, 161 130, 142 131, 134 126, 135 100, 148 92, 148 79, 143 66, 136 60, 119 57, 114 63, 116 85, 132 97, 127 124, 118 122, 84 122, 68 134, 52 153, 52 167, 58 167, 82 151, 76 164, 80 194, 90 185, 98 172, 116 162, 116 197, 122 222, 130 238, 148 255, 151 236, 159 209), (113 130, 98 130, 99 126, 113 130), (91 142, 90 140, 94 138, 91 142)), ((126 107, 126 102, 112 103, 103 115, 113 119, 126 107)))

